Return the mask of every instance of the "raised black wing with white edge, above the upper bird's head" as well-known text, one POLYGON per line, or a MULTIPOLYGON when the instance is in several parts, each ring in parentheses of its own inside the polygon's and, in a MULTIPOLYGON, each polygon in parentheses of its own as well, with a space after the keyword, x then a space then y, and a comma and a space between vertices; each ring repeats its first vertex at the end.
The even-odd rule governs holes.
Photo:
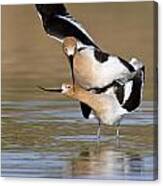
POLYGON ((67 36, 73 36, 83 45, 96 46, 86 30, 66 10, 63 4, 36 4, 39 17, 48 35, 63 42, 67 36))

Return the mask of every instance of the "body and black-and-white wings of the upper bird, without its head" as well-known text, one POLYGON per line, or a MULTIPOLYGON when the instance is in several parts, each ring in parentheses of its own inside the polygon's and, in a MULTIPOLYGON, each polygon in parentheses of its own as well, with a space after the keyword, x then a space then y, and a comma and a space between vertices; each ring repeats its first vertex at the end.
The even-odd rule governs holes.
MULTIPOLYGON (((36 8, 49 36, 63 44, 67 37, 76 39, 77 50, 66 46, 65 54, 73 63, 71 67, 79 85, 97 94, 108 94, 107 87, 115 83, 117 99, 124 109, 131 112, 140 105, 144 84, 142 63, 137 59, 128 63, 103 52, 63 4, 37 4, 36 8)), ((84 117, 89 118, 91 108, 81 103, 81 109, 84 117)))

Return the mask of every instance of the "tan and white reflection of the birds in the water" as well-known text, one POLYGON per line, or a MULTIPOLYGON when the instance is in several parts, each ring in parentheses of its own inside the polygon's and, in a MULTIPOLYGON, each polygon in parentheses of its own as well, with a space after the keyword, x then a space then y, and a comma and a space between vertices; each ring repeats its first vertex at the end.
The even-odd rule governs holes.
POLYGON ((142 177, 147 166, 144 159, 139 154, 129 156, 114 149, 94 153, 88 149, 73 160, 72 175, 78 178, 149 179, 142 177))

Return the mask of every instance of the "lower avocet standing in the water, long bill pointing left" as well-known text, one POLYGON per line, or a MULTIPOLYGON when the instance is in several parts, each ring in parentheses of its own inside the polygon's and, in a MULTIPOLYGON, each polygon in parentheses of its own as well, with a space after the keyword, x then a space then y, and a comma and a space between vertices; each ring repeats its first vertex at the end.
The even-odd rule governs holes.
MULTIPOLYGON (((136 68, 135 62, 139 67, 132 80, 129 80, 123 86, 118 82, 114 82, 103 87, 102 92, 98 92, 99 89, 85 90, 77 84, 74 86, 71 84, 62 84, 61 88, 38 88, 48 92, 60 92, 89 105, 94 117, 99 122, 97 130, 97 137, 99 138, 101 124, 119 126, 122 117, 136 109, 140 104, 142 97, 140 90, 142 90, 143 87, 144 72, 141 62, 138 63, 136 59, 131 61, 133 67, 136 68)), ((118 136, 119 128, 117 128, 117 137, 118 136)))

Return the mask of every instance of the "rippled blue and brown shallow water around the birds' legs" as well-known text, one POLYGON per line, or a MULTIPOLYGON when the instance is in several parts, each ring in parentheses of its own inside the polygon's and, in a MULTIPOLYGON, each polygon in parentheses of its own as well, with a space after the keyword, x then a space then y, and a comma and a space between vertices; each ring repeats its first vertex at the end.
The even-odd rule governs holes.
POLYGON ((84 120, 73 101, 2 103, 2 176, 154 179, 153 104, 116 128, 84 120))

